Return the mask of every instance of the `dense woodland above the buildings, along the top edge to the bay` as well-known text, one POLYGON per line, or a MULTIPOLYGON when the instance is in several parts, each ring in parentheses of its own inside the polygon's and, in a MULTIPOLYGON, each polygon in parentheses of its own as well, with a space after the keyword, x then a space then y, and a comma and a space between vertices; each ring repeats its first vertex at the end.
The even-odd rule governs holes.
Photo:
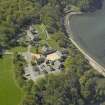
POLYGON ((71 4, 89 11, 100 8, 102 0, 0 0, 0 46, 8 47, 32 21, 43 22, 51 33, 60 30, 60 17, 71 4))

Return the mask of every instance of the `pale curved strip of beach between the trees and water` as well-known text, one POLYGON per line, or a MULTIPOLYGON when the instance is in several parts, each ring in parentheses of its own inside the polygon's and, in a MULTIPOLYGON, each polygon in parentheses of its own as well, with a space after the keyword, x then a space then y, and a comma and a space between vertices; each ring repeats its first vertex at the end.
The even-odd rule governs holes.
POLYGON ((72 31, 70 28, 70 17, 73 15, 81 15, 83 14, 82 12, 70 12, 65 16, 64 19, 64 26, 66 28, 67 34, 69 36, 69 39, 71 40, 71 42, 76 46, 76 48, 78 48, 80 50, 80 52, 85 56, 85 58, 89 61, 89 64, 95 69, 97 70, 100 74, 102 74, 105 77, 105 68, 100 65, 98 62, 95 61, 95 59, 91 56, 89 56, 80 46, 78 46, 78 44, 72 39, 71 35, 72 35, 72 31))

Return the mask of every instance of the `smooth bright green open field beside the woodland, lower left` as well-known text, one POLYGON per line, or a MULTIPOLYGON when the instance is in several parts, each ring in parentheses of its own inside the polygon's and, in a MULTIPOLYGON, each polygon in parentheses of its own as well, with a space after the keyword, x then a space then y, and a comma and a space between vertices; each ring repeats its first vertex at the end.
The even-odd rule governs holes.
POLYGON ((24 96, 13 77, 12 57, 0 59, 0 105, 19 105, 24 96))

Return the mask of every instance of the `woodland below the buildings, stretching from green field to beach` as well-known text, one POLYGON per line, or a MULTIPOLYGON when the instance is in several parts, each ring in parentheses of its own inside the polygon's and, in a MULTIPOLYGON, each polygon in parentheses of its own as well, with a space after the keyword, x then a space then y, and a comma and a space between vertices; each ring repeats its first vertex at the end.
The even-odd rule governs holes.
POLYGON ((16 54, 17 80, 27 93, 22 105, 105 105, 105 78, 89 66, 72 43, 68 49, 66 69, 37 82, 22 78, 25 61, 16 54))

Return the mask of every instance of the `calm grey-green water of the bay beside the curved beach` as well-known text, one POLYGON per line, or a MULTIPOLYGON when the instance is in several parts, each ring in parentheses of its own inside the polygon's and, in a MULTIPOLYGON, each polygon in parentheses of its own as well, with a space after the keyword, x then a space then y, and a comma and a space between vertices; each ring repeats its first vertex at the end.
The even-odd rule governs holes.
POLYGON ((105 67, 105 2, 94 13, 72 16, 72 38, 88 55, 105 67))

